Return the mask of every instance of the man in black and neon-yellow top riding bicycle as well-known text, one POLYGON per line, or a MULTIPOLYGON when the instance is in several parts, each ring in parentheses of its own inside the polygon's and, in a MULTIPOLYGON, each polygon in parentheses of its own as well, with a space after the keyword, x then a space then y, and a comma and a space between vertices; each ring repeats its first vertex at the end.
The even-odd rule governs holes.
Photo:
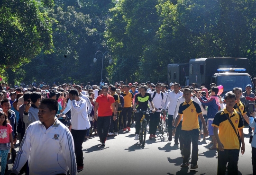
MULTIPOLYGON (((149 93, 146 92, 147 87, 146 86, 142 86, 139 87, 140 88, 140 93, 137 93, 136 97, 135 97, 135 103, 133 104, 133 111, 137 112, 137 109, 141 110, 141 111, 146 111, 148 108, 148 101, 150 102, 153 110, 152 113, 155 113, 155 106, 152 102, 152 98, 151 95, 149 93), (137 105, 138 102, 138 105, 137 105), (136 106, 137 105, 137 106, 136 106)), ((139 134, 139 127, 140 127, 140 120, 142 118, 142 113, 135 113, 136 115, 136 125, 135 125, 135 129, 136 129, 136 136, 134 138, 134 140, 138 140, 138 134, 139 134)), ((149 114, 146 114, 146 120, 147 122, 149 121, 149 114)))

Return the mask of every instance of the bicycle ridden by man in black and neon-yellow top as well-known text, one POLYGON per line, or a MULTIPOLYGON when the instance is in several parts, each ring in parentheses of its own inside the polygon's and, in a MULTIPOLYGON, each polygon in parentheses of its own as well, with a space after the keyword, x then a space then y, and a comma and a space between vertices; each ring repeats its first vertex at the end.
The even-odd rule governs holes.
POLYGON ((152 110, 147 109, 146 111, 137 110, 138 113, 143 113, 143 116, 140 120, 140 129, 139 129, 139 145, 144 147, 146 141, 146 112, 151 112, 152 110))

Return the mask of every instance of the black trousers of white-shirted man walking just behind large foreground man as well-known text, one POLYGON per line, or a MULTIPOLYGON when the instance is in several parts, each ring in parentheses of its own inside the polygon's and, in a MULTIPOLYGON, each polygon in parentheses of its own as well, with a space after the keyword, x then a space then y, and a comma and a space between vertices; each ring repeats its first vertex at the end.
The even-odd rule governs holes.
POLYGON ((75 150, 75 159, 77 166, 83 166, 82 160, 82 142, 86 135, 87 130, 73 130, 71 129, 71 134, 74 140, 74 150, 75 150))

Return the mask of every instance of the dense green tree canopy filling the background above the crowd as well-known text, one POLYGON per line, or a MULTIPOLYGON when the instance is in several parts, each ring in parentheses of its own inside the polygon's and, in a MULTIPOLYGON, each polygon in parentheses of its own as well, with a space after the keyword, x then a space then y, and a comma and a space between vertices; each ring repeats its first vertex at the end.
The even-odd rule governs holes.
POLYGON ((2 0, 0 74, 9 82, 153 82, 167 64, 243 57, 256 76, 256 0, 2 0))

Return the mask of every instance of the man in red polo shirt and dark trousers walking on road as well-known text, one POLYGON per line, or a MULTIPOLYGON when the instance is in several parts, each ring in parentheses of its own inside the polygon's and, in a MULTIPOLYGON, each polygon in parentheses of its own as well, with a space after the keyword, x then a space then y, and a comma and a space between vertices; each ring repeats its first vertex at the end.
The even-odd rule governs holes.
POLYGON ((115 99, 108 94, 109 88, 103 86, 102 93, 97 97, 94 104, 94 119, 97 121, 98 134, 101 140, 101 146, 105 146, 110 129, 110 121, 113 109, 113 120, 117 119, 117 110, 115 107, 115 99))

